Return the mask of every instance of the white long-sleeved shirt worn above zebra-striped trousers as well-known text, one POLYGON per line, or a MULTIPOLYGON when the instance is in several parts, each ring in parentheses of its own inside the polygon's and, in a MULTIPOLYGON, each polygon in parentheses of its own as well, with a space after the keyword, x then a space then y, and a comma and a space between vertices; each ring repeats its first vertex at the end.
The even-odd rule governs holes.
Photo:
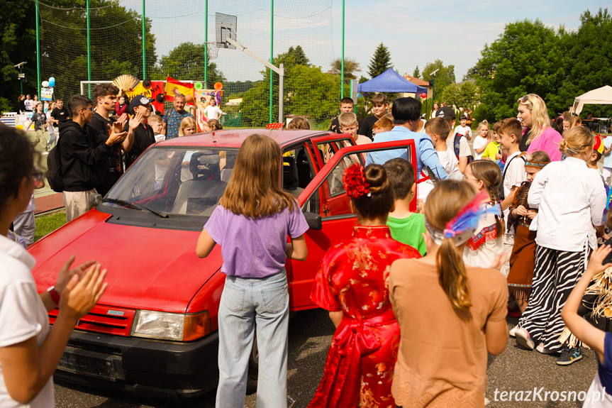
POLYGON ((577 158, 546 165, 533 180, 527 202, 539 209, 535 243, 545 248, 580 252, 589 231, 601 226, 606 189, 597 172, 577 158))

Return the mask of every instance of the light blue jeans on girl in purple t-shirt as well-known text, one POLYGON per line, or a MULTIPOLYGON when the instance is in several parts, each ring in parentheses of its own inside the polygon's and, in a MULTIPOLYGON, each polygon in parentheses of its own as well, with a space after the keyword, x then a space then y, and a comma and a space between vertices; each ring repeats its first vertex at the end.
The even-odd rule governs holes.
POLYGON ((226 277, 219 304, 216 408, 243 408, 257 325, 257 407, 286 408, 289 290, 284 269, 264 278, 226 277))

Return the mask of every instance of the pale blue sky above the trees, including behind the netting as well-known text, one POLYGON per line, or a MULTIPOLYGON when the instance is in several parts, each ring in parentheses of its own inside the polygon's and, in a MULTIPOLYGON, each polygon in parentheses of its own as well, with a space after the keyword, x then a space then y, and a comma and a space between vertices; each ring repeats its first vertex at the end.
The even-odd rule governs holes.
MULTIPOLYGON (((140 12, 140 0, 121 0, 140 12)), ((204 0, 181 1, 167 8, 167 0, 147 0, 147 16, 157 38, 157 54, 186 41, 204 42, 204 0)), ((341 55, 342 0, 274 0, 274 55, 301 45, 313 65, 326 72, 341 55)), ((461 81, 476 64, 486 43, 503 32, 506 23, 539 18, 547 26, 579 26, 586 9, 596 13, 606 4, 583 1, 346 0, 345 57, 367 65, 379 43, 391 52, 400 73, 423 70, 427 62, 455 65, 461 81)), ((238 16, 238 40, 252 52, 269 57, 270 0, 208 0, 208 41, 215 37, 215 12, 238 16)), ((216 60, 228 81, 261 79, 262 65, 238 50, 220 50, 216 60)), ((187 78, 184 78, 187 79, 187 78)))

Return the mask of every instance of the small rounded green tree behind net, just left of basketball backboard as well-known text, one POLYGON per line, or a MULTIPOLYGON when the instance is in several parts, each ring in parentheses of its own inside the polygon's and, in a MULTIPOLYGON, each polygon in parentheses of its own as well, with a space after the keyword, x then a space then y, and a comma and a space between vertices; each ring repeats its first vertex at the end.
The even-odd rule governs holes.
MULTIPOLYGON (((160 60, 160 78, 167 76, 177 79, 193 79, 204 82, 204 44, 182 43, 173 48, 160 60)), ((226 77, 217 69, 216 62, 208 62, 208 84, 212 89, 215 82, 224 82, 226 77)))

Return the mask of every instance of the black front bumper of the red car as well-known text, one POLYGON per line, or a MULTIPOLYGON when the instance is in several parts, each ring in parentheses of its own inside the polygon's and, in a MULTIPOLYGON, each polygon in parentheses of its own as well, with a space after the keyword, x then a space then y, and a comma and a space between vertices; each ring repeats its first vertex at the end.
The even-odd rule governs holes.
POLYGON ((218 344, 218 331, 189 343, 74 331, 55 377, 145 397, 196 397, 217 386, 218 344))

